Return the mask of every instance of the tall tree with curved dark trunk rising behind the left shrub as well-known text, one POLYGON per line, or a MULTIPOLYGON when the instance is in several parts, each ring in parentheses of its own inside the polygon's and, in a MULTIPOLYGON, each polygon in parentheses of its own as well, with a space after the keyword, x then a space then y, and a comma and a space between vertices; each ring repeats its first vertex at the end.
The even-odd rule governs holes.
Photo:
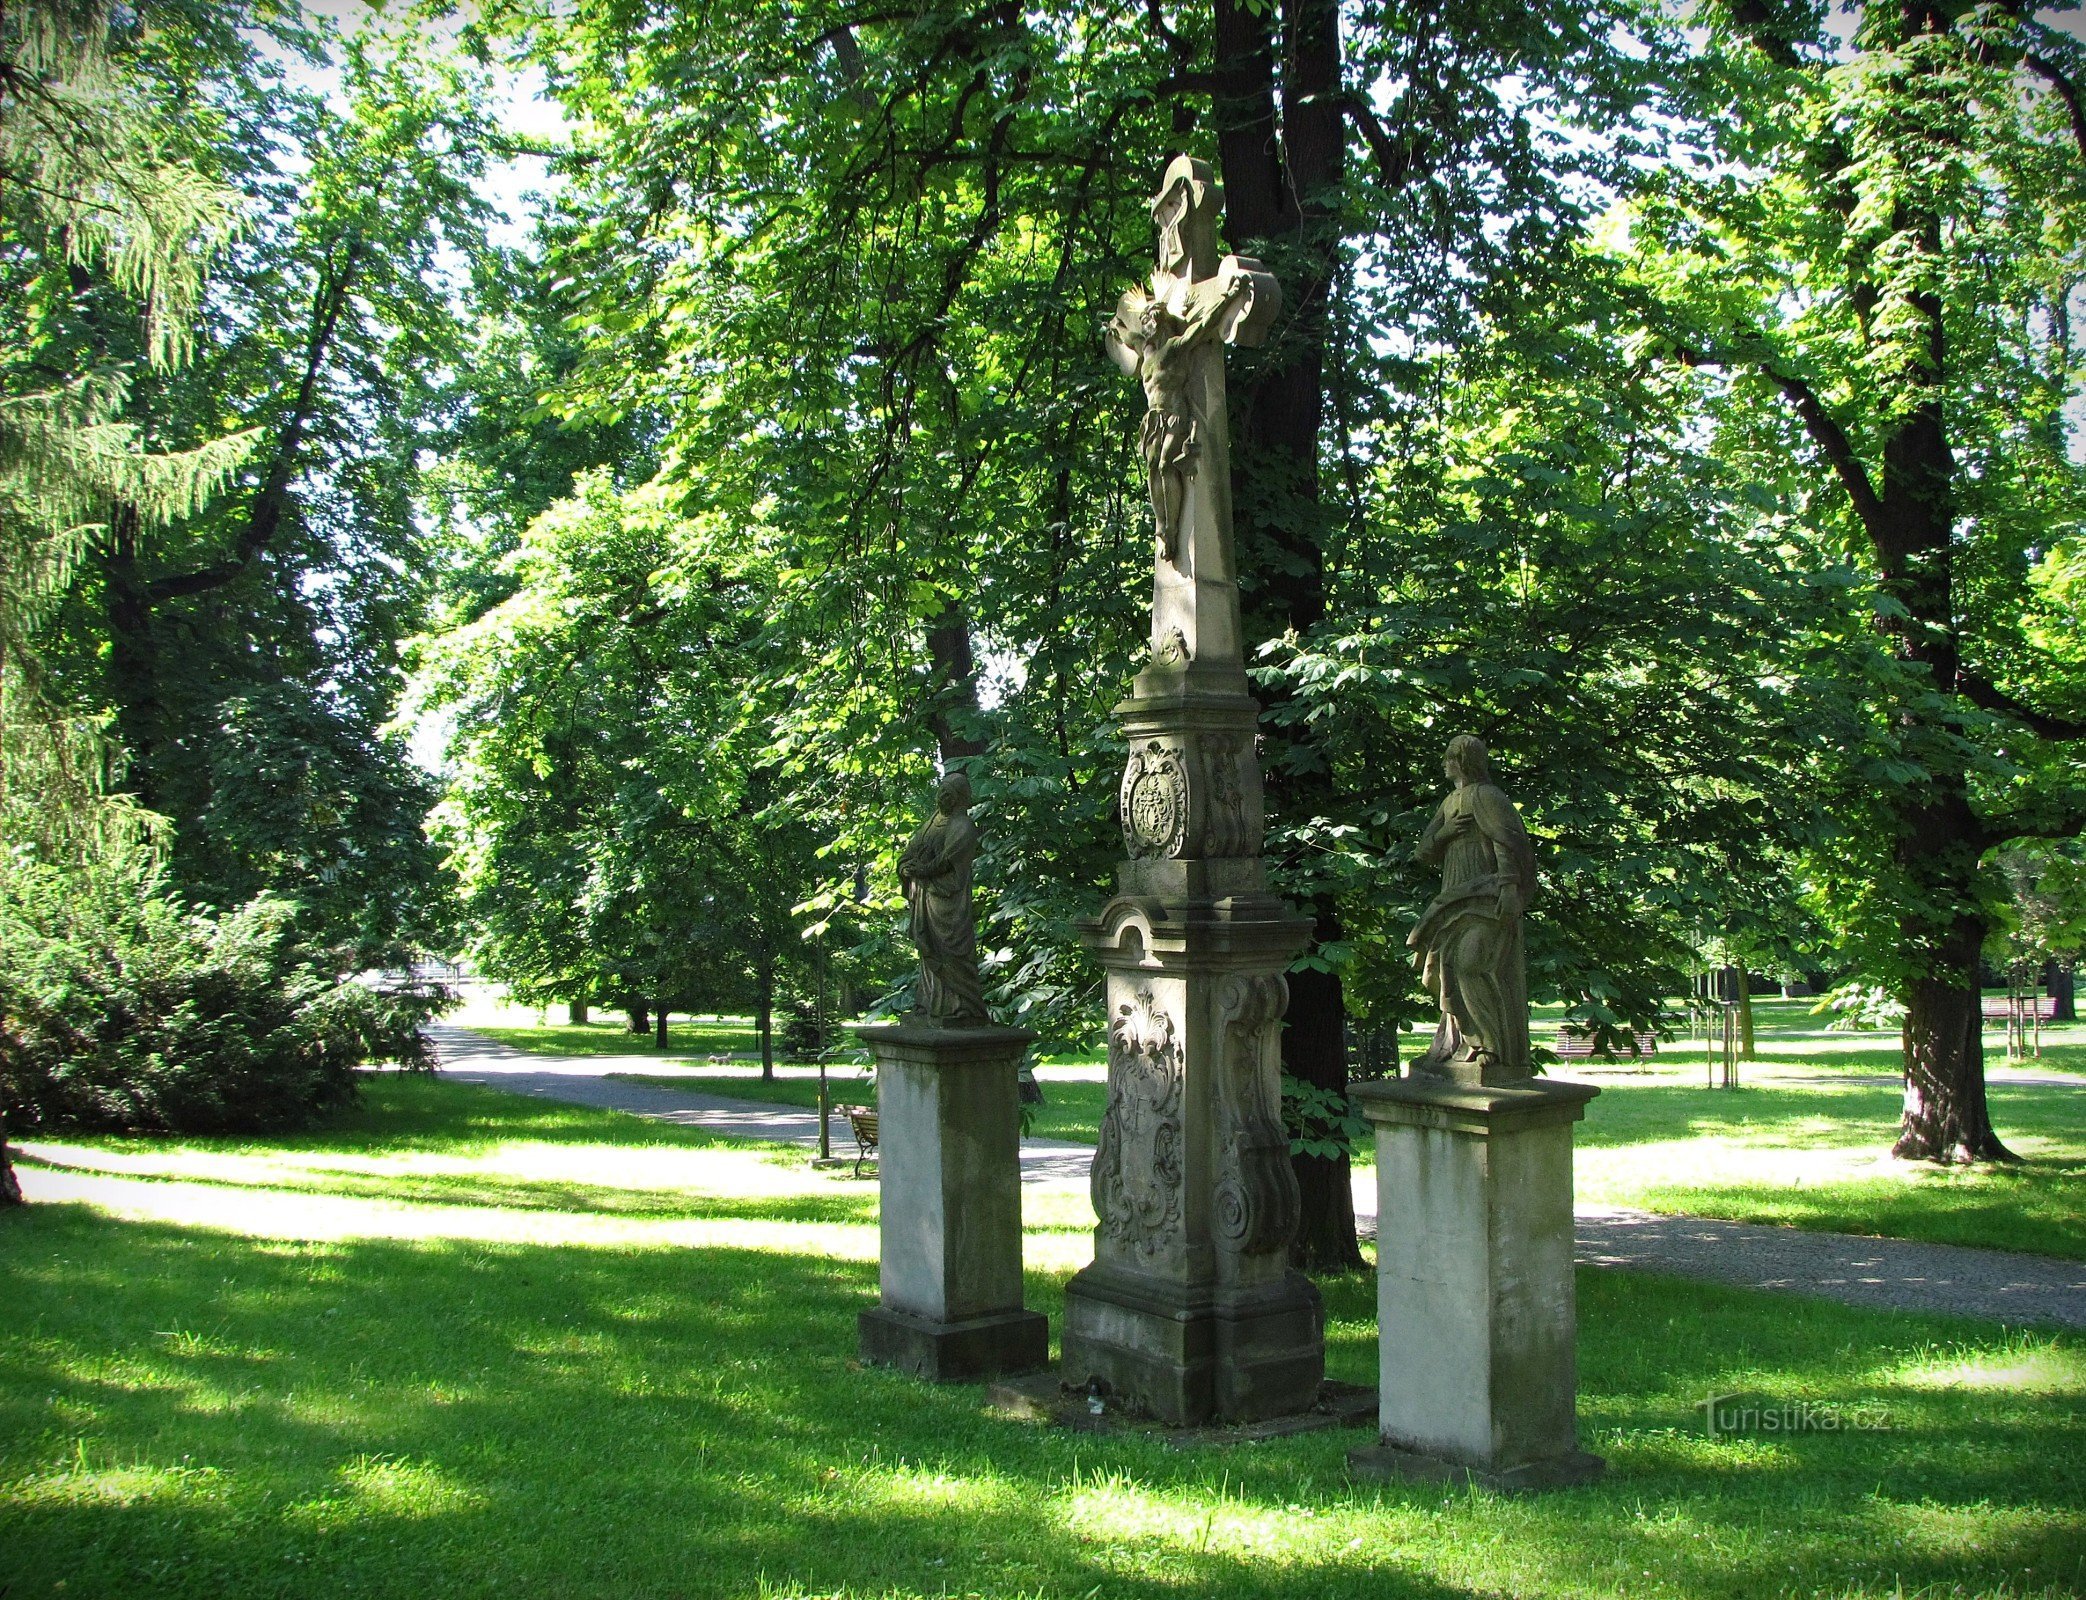
POLYGON ((436 928, 432 791, 386 724, 428 576, 421 455, 486 261, 482 86, 411 25, 336 40, 267 6, 146 6, 117 42, 240 229, 184 307, 184 367, 144 373, 92 271, 52 286, 46 350, 131 363, 121 415, 154 444, 229 419, 252 451, 179 517, 117 496, 52 665, 113 713, 186 893, 288 893, 307 932, 373 960, 436 928))

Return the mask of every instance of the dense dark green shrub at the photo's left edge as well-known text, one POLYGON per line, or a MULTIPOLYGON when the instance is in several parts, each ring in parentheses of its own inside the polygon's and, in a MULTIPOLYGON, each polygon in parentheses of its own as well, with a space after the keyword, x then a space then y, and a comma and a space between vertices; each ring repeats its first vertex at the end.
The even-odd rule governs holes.
POLYGON ((129 872, 0 882, 0 1112, 29 1129, 252 1131, 355 1099, 355 1068, 428 1068, 446 999, 386 993, 305 945, 296 905, 198 912, 129 872))

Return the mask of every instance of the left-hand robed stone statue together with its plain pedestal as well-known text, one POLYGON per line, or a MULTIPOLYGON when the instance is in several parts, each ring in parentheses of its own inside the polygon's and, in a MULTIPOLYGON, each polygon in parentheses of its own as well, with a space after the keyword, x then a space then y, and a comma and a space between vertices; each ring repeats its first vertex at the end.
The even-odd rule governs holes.
POLYGON ((862 1358, 939 1383, 1028 1373, 1049 1325, 1022 1306, 1024 1028, 995 1028, 978 980, 970 778, 947 774, 899 855, 918 1005, 859 1037, 876 1053, 878 1304, 862 1358))

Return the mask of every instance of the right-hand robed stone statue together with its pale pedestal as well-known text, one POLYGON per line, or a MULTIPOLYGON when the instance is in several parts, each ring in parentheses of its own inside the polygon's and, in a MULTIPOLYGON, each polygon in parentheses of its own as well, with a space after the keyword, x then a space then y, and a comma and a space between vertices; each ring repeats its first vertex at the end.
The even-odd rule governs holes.
POLYGON ((1535 853, 1485 745, 1452 738, 1416 855, 1441 893, 1408 941, 1439 1008, 1410 1076, 1354 1091, 1377 1131, 1377 1425, 1368 1477, 1585 1483, 1575 1427, 1573 1122, 1598 1089, 1529 1070, 1521 916, 1535 853))

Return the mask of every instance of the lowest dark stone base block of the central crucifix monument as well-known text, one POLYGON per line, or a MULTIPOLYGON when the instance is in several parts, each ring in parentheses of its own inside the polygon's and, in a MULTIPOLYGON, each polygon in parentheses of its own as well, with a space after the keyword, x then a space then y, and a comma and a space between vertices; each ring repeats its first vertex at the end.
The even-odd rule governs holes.
POLYGON ((1174 1427, 1308 1410, 1325 1310, 1300 1272, 1183 1302, 1177 1287, 1089 1266, 1064 1291, 1064 1373, 1174 1427))

